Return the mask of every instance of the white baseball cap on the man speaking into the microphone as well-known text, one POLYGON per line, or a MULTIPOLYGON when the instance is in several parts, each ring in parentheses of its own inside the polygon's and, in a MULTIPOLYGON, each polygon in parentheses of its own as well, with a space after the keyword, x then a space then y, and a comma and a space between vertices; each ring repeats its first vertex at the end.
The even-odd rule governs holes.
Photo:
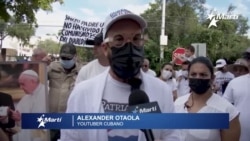
POLYGON ((110 13, 106 17, 103 26, 103 39, 105 39, 107 31, 110 28, 110 26, 122 19, 131 19, 136 21, 143 30, 147 27, 146 21, 141 16, 136 15, 127 9, 120 9, 118 11, 110 13))

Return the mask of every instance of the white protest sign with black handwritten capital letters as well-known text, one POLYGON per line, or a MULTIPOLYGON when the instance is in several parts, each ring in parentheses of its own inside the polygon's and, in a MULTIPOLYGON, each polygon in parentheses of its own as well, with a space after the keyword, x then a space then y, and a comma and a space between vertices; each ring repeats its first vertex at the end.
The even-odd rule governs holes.
POLYGON ((60 42, 85 46, 86 40, 93 40, 98 33, 102 32, 103 25, 103 22, 87 22, 66 15, 60 42))

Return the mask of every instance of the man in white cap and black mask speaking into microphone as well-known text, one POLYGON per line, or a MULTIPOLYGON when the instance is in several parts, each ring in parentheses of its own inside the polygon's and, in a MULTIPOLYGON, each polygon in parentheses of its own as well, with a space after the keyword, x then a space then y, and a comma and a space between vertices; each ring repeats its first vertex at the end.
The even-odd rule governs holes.
MULTIPOLYGON (((141 72, 146 26, 142 17, 126 9, 108 15, 103 28, 103 48, 110 68, 75 86, 66 113, 127 112, 128 99, 134 89, 145 91, 150 100, 157 101, 161 112, 174 112, 171 88, 141 72)), ((61 131, 61 141, 146 141, 139 129, 61 131)), ((179 141, 177 130, 153 130, 153 133, 155 140, 179 141)))

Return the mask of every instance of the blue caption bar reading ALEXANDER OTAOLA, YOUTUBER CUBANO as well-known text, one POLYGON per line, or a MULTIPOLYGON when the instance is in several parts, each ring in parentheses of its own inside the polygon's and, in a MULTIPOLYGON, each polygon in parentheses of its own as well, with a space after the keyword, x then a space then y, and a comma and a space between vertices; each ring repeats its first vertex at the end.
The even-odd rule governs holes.
POLYGON ((228 129, 226 113, 24 113, 23 129, 228 129))

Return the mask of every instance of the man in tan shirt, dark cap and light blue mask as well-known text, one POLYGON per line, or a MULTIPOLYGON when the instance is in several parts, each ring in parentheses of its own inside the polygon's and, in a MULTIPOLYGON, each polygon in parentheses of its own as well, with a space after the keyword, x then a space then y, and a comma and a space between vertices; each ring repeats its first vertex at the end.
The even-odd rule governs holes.
MULTIPOLYGON (((49 80, 49 111, 64 113, 67 100, 74 87, 75 79, 80 70, 76 61, 76 47, 64 44, 60 50, 60 61, 51 62, 48 67, 49 80)), ((51 131, 51 141, 57 141, 60 130, 51 131)))

